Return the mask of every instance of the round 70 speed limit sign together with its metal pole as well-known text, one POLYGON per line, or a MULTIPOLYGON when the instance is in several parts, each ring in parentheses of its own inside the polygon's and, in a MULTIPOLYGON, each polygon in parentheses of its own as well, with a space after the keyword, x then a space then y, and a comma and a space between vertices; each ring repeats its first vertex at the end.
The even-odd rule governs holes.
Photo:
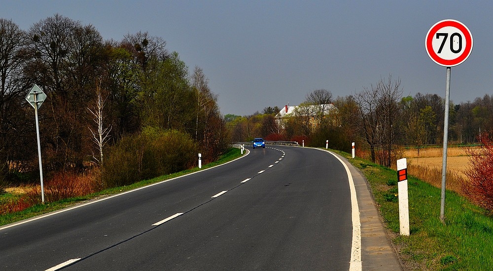
POLYGON ((472 52, 471 31, 456 20, 442 20, 434 24, 426 34, 424 47, 428 56, 447 68, 445 74, 445 117, 443 125, 442 193, 440 220, 445 224, 445 188, 447 174, 447 145, 449 134, 450 68, 464 62, 472 52))

